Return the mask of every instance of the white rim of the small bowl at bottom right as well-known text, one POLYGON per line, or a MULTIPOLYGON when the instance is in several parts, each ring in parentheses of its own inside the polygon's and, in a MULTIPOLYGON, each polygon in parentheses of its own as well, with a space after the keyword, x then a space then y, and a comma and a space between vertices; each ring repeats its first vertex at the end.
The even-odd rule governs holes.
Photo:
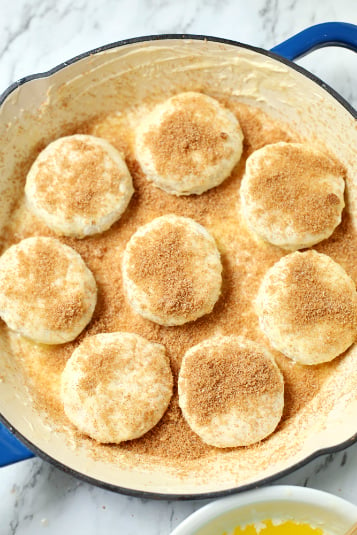
POLYGON ((332 509, 334 512, 346 516, 351 520, 351 525, 357 521, 357 505, 335 494, 309 487, 274 485, 249 490, 242 494, 209 503, 183 520, 171 532, 171 535, 194 535, 197 529, 205 527, 211 520, 224 513, 235 509, 239 510, 246 505, 269 502, 303 503, 321 506, 326 510, 330 511, 332 509))

